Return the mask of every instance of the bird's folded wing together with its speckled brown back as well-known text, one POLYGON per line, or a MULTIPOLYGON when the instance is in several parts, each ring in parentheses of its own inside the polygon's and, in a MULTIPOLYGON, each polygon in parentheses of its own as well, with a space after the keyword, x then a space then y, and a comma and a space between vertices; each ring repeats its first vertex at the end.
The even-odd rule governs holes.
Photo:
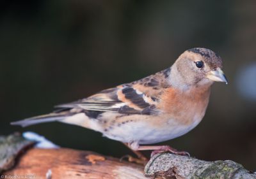
POLYGON ((119 85, 74 103, 61 104, 57 108, 79 108, 86 111, 118 112, 124 114, 154 114, 161 91, 167 87, 166 69, 136 82, 119 85))

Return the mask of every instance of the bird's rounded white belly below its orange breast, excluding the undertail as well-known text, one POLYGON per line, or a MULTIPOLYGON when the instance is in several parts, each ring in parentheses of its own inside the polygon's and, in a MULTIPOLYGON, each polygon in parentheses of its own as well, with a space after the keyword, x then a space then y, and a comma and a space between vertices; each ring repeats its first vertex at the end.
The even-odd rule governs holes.
POLYGON ((190 125, 179 124, 172 118, 163 125, 148 125, 147 121, 137 120, 113 127, 108 132, 104 132, 104 136, 125 143, 136 141, 139 144, 152 144, 182 136, 191 131, 200 120, 195 120, 190 125))

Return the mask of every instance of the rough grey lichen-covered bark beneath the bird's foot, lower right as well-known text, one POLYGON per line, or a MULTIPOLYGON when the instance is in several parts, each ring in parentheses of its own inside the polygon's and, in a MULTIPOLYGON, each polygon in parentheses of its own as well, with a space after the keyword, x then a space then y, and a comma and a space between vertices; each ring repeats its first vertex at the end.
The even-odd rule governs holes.
POLYGON ((256 178, 256 174, 233 161, 200 161, 193 157, 161 153, 145 166, 145 175, 162 178, 256 178))

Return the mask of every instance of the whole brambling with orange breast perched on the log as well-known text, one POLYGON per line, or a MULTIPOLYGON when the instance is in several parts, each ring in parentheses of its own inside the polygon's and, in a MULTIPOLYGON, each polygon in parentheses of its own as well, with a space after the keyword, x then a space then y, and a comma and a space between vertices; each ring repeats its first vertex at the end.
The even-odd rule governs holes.
POLYGON ((191 48, 170 68, 154 75, 58 105, 52 113, 12 125, 58 121, 102 132, 132 150, 186 154, 169 146, 141 145, 172 140, 196 127, 205 115, 212 83, 227 83, 221 68, 221 58, 212 50, 191 48))

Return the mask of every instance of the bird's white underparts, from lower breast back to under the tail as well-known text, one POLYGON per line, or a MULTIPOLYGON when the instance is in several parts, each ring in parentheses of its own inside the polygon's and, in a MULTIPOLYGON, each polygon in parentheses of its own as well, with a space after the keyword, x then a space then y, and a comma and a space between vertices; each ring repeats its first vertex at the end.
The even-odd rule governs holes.
MULTIPOLYGON (((113 113, 106 113, 104 117, 108 118, 109 115, 113 115, 113 113)), ((112 140, 122 141, 124 143, 137 142, 138 144, 152 144, 172 140, 173 138, 186 134, 199 124, 203 116, 202 114, 195 115, 193 122, 189 125, 182 125, 178 123, 179 120, 170 118, 169 120, 164 120, 165 124, 161 124, 159 127, 148 124, 148 120, 156 120, 154 118, 135 120, 136 118, 141 118, 141 116, 132 115, 127 117, 130 117, 130 120, 131 118, 134 120, 122 125, 111 124, 111 128, 107 131, 104 131, 104 127, 102 127, 102 123, 99 120, 90 119, 84 113, 77 113, 72 117, 64 118, 61 122, 81 125, 102 132, 104 136, 112 140)))

